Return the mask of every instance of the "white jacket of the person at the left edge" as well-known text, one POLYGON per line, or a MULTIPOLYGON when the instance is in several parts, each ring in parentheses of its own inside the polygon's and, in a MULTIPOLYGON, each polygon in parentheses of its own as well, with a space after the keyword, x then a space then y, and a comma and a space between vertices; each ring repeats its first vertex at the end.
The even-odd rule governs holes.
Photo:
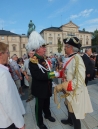
POLYGON ((0 128, 24 125, 25 109, 8 69, 0 64, 0 128))

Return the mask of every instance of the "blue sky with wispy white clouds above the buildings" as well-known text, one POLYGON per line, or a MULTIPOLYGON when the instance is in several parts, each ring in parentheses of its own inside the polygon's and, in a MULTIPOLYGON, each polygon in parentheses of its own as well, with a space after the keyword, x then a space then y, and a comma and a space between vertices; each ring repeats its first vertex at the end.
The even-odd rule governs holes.
POLYGON ((0 29, 27 34, 30 20, 38 32, 70 20, 93 32, 98 29, 98 0, 0 0, 0 29))

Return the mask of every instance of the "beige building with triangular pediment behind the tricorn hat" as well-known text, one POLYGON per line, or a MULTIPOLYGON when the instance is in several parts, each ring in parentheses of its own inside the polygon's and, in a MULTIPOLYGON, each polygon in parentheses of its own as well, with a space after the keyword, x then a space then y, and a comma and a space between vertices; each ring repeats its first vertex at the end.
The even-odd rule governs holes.
MULTIPOLYGON (((72 21, 60 27, 50 27, 43 29, 40 34, 49 45, 47 46, 47 55, 58 53, 58 39, 63 43, 63 39, 69 35, 77 36, 80 39, 82 46, 91 46, 92 34, 86 31, 80 31, 79 27, 72 21)), ((64 54, 64 48, 62 49, 64 54)))

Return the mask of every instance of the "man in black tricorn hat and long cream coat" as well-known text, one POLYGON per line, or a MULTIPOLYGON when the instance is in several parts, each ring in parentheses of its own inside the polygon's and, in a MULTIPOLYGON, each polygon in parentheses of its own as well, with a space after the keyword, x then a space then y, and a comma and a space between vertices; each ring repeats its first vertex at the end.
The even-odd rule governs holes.
POLYGON ((86 113, 93 111, 87 87, 85 85, 85 65, 78 51, 81 47, 77 37, 68 37, 63 40, 65 53, 68 59, 64 64, 62 74, 63 83, 54 88, 55 103, 57 93, 64 92, 65 105, 68 109, 68 119, 61 120, 63 124, 73 125, 74 129, 81 129, 80 119, 85 118, 86 113))

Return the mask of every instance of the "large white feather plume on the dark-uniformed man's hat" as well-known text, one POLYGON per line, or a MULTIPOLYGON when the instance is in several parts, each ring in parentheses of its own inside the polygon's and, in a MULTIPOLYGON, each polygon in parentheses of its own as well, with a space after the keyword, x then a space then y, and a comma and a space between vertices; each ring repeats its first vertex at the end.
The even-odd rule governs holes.
POLYGON ((29 36, 28 44, 26 45, 27 51, 30 50, 37 50, 42 45, 45 44, 45 40, 42 38, 42 36, 37 33, 36 31, 32 31, 32 33, 29 36))

